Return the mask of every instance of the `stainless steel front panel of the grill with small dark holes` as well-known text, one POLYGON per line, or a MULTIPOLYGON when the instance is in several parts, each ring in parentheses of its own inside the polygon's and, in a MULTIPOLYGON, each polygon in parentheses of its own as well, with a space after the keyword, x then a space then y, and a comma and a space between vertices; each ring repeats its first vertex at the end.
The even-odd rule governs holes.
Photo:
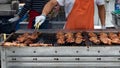
POLYGON ((7 47, 2 68, 120 67, 119 46, 7 47))

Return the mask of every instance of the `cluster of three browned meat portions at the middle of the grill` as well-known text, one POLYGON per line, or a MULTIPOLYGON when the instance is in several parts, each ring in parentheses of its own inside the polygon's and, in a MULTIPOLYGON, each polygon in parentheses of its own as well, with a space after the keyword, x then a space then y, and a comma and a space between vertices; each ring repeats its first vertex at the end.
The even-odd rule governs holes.
POLYGON ((83 41, 83 37, 81 32, 72 33, 72 32, 57 32, 56 34, 57 43, 65 44, 65 43, 76 43, 80 44, 83 41))

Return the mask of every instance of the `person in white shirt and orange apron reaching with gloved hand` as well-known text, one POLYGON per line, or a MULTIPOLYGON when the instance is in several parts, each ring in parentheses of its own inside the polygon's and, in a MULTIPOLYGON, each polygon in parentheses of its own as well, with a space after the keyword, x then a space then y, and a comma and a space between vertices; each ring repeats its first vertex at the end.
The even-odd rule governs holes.
POLYGON ((48 15, 52 8, 57 4, 65 7, 67 22, 64 29, 93 30, 95 4, 98 6, 102 29, 105 29, 104 0, 50 0, 45 5, 42 14, 36 17, 34 26, 39 27, 45 21, 46 15, 48 15))

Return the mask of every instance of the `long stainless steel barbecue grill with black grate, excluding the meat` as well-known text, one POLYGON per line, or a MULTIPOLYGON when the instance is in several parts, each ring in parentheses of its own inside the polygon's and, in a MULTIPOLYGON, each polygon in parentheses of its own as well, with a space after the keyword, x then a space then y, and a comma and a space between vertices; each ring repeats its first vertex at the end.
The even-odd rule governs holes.
MULTIPOLYGON (((18 35, 33 30, 19 30, 5 42, 15 40, 18 35)), ((4 47, 1 46, 2 68, 120 68, 120 45, 93 44, 89 41, 79 45, 56 43, 56 32, 114 32, 119 30, 39 30, 41 35, 35 41, 52 44, 47 47, 4 47)))

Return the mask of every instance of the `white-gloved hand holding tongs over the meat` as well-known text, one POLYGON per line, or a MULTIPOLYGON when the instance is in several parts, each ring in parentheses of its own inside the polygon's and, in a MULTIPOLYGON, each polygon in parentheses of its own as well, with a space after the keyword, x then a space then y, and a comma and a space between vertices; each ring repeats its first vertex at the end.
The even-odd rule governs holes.
POLYGON ((40 16, 36 16, 35 18, 35 28, 39 28, 39 26, 46 20, 46 16, 45 15, 40 15, 40 16))

